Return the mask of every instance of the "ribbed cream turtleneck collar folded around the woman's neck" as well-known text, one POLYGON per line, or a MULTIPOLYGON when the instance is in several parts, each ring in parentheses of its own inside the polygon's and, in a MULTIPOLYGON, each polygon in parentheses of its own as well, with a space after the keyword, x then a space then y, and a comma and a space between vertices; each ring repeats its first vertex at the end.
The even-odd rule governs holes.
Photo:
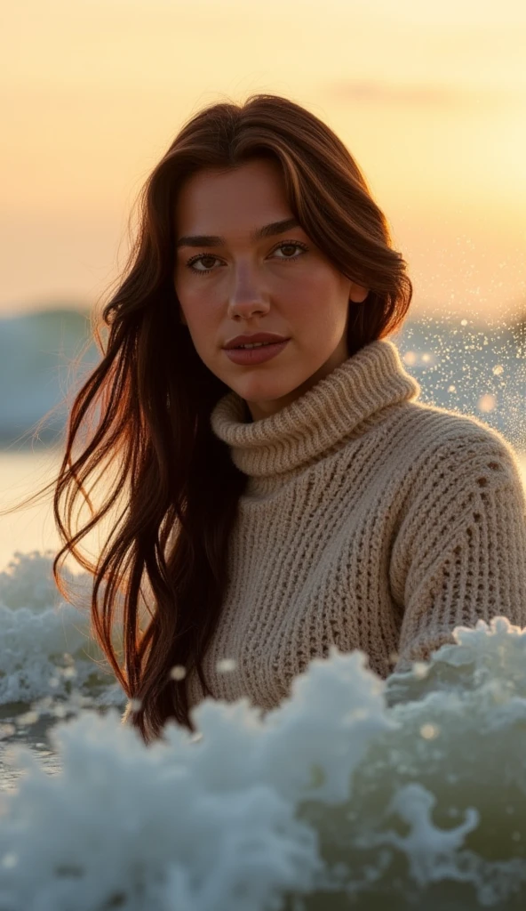
POLYGON ((217 402, 210 421, 242 472, 270 477, 318 460, 372 415, 419 394, 420 385, 404 370, 398 349, 381 339, 275 415, 248 423, 245 400, 230 392, 217 402))

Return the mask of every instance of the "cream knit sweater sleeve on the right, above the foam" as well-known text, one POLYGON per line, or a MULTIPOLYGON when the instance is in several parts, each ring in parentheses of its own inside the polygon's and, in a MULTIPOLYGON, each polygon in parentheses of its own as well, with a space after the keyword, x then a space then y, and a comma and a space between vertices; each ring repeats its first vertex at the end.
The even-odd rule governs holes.
POLYGON ((457 626, 526 626, 526 498, 511 446, 480 427, 421 467, 389 568, 402 609, 394 671, 454 643, 457 626))

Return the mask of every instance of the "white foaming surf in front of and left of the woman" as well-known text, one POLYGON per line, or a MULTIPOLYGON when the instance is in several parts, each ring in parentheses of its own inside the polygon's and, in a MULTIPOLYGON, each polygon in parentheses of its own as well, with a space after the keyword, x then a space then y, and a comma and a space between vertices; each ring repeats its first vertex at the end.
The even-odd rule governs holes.
MULTIPOLYGON (((4 696, 47 692, 63 634, 69 667, 81 658, 86 579, 70 614, 48 570, 18 555, 0 576, 19 681, 4 696), (42 670, 25 690, 24 654, 42 670)), ((208 698, 197 734, 168 722, 148 747, 116 707, 84 708, 50 732, 54 775, 11 747, 24 775, 0 793, 0 909, 523 907, 526 629, 480 620, 455 640, 387 681, 333 647, 275 710, 208 698)))

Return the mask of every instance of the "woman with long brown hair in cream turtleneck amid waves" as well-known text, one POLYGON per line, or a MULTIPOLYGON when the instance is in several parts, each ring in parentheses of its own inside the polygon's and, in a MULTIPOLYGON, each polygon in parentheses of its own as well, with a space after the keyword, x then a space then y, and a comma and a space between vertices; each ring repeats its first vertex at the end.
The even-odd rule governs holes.
POLYGON ((149 742, 168 718, 194 731, 206 695, 268 710, 331 643, 385 679, 459 625, 526 625, 514 453, 417 401, 388 338, 406 262, 339 138, 283 97, 209 106, 141 200, 56 485, 59 584, 124 497, 98 564, 83 558, 124 720, 149 742), (75 537, 76 497, 110 468, 75 537))

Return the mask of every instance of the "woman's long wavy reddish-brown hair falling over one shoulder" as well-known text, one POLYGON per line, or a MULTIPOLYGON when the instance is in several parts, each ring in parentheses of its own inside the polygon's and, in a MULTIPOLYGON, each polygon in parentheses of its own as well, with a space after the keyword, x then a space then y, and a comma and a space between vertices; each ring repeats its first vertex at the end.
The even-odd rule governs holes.
POLYGON ((412 296, 407 264, 358 164, 328 126, 288 98, 258 94, 242 105, 203 108, 147 178, 124 273, 95 325, 101 360, 68 417, 54 498, 65 544, 53 564, 63 594, 59 564, 67 554, 93 574, 92 634, 134 701, 130 722, 145 742, 168 718, 194 731, 185 678, 175 666, 196 669, 210 693, 202 660, 227 586, 228 538, 246 482, 209 422, 228 386, 200 360, 179 321, 177 192, 200 169, 261 157, 278 161, 290 210, 319 250, 370 289, 350 309, 350 355, 393 333, 412 296), (91 504, 86 482, 93 477, 105 481, 105 496, 76 530, 74 507, 78 497, 91 504), (117 501, 124 506, 99 557, 81 555, 79 542, 113 517, 117 501), (124 667, 112 643, 117 607, 124 667))

